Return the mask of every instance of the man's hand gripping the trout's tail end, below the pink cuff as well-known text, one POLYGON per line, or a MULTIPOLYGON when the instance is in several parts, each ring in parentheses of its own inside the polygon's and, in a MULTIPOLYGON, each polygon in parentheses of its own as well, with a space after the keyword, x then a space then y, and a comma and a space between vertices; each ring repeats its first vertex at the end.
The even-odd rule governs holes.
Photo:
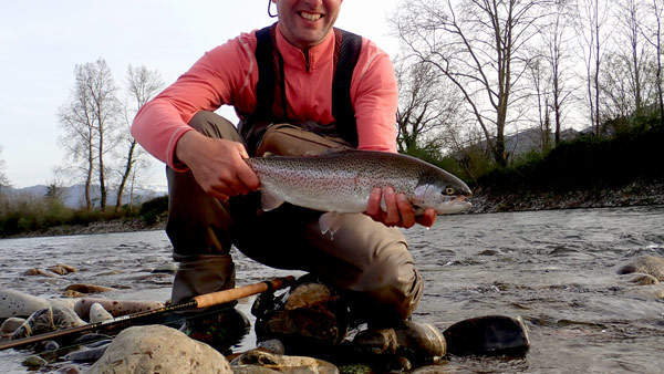
POLYGON ((258 189, 260 180, 245 158, 245 146, 238 142, 207 137, 187 132, 177 142, 177 158, 191 169, 206 194, 221 200, 258 189))

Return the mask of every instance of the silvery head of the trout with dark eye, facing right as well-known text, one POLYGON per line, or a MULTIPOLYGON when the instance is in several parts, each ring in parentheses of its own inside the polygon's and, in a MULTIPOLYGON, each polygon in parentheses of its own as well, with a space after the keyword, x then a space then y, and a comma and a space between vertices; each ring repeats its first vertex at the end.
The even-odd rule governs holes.
POLYGON ((450 215, 469 209, 470 196, 470 188, 461 179, 436 169, 421 175, 411 202, 416 214, 433 208, 437 215, 450 215))

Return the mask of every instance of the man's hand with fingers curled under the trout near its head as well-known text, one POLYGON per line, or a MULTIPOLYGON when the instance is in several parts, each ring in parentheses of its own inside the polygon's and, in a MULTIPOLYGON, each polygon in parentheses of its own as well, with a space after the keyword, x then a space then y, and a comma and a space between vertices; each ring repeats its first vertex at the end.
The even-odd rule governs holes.
POLYGON ((395 194, 392 187, 374 188, 369 197, 366 211, 364 212, 375 221, 383 222, 386 226, 398 226, 411 228, 415 222, 432 227, 436 220, 436 211, 426 209, 424 215, 415 217, 413 206, 406 199, 404 194, 395 194), (381 196, 385 199, 387 211, 381 209, 381 196))

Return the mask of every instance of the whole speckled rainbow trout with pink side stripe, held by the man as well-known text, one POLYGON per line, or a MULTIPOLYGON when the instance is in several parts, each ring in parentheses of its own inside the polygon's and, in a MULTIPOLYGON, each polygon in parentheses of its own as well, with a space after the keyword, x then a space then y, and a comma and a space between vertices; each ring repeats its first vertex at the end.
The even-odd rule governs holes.
MULTIPOLYGON (((340 150, 313 157, 247 159, 260 179, 261 205, 272 210, 284 201, 332 214, 321 216, 321 231, 334 232, 334 215, 366 210, 374 187, 404 194, 415 215, 433 208, 438 215, 470 208, 468 186, 454 175, 418 158, 384 152, 340 150)), ((385 210, 384 201, 382 207, 385 210)))

